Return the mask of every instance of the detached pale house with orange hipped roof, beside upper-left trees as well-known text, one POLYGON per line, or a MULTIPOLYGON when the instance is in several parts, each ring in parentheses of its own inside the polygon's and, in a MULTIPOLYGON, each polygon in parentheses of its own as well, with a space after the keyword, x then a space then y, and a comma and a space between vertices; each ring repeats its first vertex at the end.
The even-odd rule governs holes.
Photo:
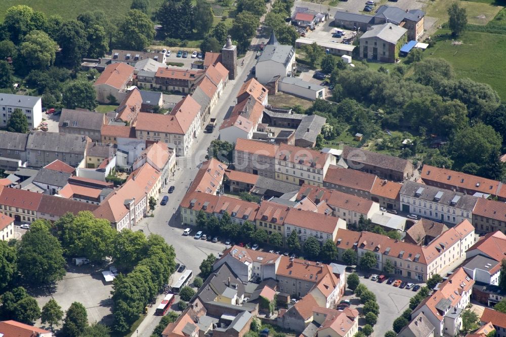
POLYGON ((126 89, 132 83, 134 67, 126 63, 109 64, 93 84, 97 92, 97 101, 110 103, 112 95, 116 101, 121 101, 126 89))

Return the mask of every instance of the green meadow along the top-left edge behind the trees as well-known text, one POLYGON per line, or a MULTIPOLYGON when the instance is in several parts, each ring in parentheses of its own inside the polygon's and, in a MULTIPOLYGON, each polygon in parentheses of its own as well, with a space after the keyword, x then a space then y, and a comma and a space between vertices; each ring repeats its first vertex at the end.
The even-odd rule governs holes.
MULTIPOLYGON (((160 7, 163 0, 150 0, 150 12, 160 7)), ((77 15, 87 11, 102 10, 111 19, 120 17, 128 12, 132 0, 94 1, 94 0, 2 0, 0 1, 0 21, 4 20, 9 7, 16 5, 30 6, 46 15, 61 15, 65 19, 75 19, 77 15)))

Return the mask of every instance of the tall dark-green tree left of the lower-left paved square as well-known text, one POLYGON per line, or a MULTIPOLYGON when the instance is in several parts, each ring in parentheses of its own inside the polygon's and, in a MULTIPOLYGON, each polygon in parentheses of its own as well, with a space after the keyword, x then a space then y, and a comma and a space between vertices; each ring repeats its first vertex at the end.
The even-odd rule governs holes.
POLYGON ((65 260, 58 239, 45 222, 31 224, 18 245, 18 269, 31 284, 52 283, 65 275, 65 260))

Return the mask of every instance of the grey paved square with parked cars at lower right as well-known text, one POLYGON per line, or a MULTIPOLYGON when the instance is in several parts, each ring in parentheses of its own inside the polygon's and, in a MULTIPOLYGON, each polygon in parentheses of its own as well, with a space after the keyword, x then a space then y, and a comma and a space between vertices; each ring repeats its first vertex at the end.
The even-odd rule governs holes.
MULTIPOLYGON (((377 283, 366 279, 363 274, 360 275, 360 282, 365 284, 369 290, 374 292, 376 295, 377 303, 379 305, 379 317, 378 323, 374 325, 374 336, 383 336, 388 330, 392 330, 391 322, 394 321, 401 313, 409 307, 409 299, 415 296, 416 292, 411 289, 394 287, 392 284, 387 284, 387 281, 383 283, 377 283), (388 324, 382 324, 382 322, 389 322, 388 324)), ((413 282, 414 283, 414 282, 413 282)), ((422 285, 422 284, 420 284, 422 285)), ((351 294, 350 290, 345 293, 343 297, 345 300, 351 301, 351 307, 358 307, 361 309, 362 304, 360 301, 351 294)), ((361 310, 359 310, 361 312, 361 310)), ((365 319, 359 320, 359 325, 365 325, 365 319)))

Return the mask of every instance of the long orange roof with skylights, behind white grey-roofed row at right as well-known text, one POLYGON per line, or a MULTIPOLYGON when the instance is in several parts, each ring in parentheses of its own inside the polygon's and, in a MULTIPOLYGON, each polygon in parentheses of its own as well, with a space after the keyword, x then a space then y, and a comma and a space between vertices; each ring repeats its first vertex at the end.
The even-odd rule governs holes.
POLYGON ((500 182, 495 180, 473 176, 462 172, 448 170, 448 168, 440 168, 427 164, 422 167, 420 178, 426 181, 426 183, 428 181, 432 181, 440 183, 441 186, 455 186, 458 189, 479 191, 485 194, 493 195, 499 192, 499 187, 501 185, 500 182))

